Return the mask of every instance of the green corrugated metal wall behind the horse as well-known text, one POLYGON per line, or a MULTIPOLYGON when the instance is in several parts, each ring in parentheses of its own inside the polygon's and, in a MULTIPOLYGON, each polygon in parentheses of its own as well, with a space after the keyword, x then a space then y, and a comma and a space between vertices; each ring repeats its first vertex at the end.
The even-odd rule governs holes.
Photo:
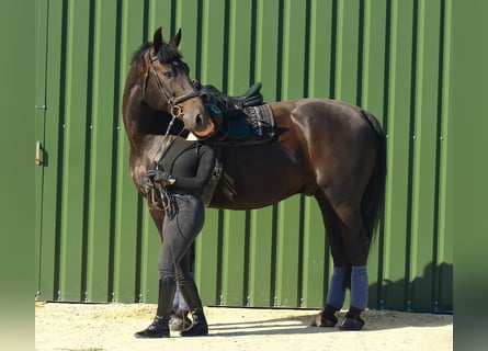
MULTIPOLYGON (((154 31, 193 78, 266 101, 345 100, 388 135, 370 307, 452 310, 451 0, 38 0, 38 299, 155 302, 159 237, 128 176, 121 94, 154 31)), ((320 307, 331 269, 318 206, 208 210, 195 276, 206 305, 320 307)))

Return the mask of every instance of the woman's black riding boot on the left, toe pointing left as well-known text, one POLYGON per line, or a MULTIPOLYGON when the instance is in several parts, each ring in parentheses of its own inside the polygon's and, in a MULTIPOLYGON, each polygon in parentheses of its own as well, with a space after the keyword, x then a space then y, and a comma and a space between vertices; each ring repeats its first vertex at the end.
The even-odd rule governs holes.
POLYGON ((159 280, 158 310, 155 320, 146 329, 136 332, 136 338, 169 338, 169 320, 172 314, 172 305, 177 283, 173 278, 166 276, 159 280))

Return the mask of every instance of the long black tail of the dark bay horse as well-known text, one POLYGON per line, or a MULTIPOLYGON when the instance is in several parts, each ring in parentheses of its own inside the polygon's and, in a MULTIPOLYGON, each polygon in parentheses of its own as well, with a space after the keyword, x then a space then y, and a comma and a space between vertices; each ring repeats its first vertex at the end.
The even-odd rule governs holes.
POLYGON ((364 229, 371 239, 378 224, 385 202, 386 135, 374 115, 364 110, 363 114, 376 135, 376 160, 361 201, 361 216, 363 217, 364 229))

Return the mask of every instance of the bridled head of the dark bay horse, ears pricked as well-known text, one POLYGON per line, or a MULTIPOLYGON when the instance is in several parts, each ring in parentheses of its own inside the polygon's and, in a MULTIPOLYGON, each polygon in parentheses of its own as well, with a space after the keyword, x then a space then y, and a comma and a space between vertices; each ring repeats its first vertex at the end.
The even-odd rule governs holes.
POLYGON ((181 30, 169 43, 162 39, 161 29, 155 32, 152 44, 141 57, 143 99, 150 107, 180 118, 186 129, 204 137, 213 131, 213 122, 189 77, 189 66, 178 49, 180 39, 181 30))

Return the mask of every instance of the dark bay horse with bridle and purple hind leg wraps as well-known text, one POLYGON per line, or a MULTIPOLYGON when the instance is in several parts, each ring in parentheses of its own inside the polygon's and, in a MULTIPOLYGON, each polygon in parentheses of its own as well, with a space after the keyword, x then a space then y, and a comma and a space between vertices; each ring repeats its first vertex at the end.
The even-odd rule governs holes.
MULTIPOLYGON (((130 64, 123 118, 130 144, 130 176, 137 188, 160 156, 167 132, 185 136, 189 131, 205 138, 215 129, 216 123, 205 113, 189 78, 189 67, 178 49, 180 39, 181 31, 164 42, 159 29, 130 64)), ((361 329, 360 314, 367 304, 365 265, 385 192, 385 135, 372 114, 344 102, 303 99, 270 106, 275 138, 262 145, 223 148, 224 173, 209 207, 251 210, 294 194, 314 196, 334 263, 330 284, 334 291, 329 291, 315 324, 337 324, 334 313, 350 287, 351 306, 341 328, 361 329), (354 275, 355 268, 363 268, 359 275, 354 275)), ((149 211, 161 234, 164 213, 149 211)))

